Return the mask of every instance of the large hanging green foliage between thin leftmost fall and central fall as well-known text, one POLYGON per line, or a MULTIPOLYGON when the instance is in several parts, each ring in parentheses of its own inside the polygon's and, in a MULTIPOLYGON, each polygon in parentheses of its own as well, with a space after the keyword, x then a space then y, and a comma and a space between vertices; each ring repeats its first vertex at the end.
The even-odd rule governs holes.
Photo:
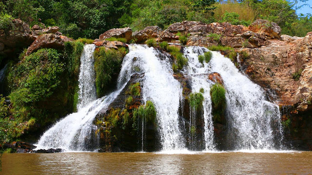
POLYGON ((100 47, 94 52, 94 70, 96 72, 98 97, 104 96, 107 92, 115 88, 115 80, 118 77, 125 54, 125 48, 106 51, 104 47, 100 47))

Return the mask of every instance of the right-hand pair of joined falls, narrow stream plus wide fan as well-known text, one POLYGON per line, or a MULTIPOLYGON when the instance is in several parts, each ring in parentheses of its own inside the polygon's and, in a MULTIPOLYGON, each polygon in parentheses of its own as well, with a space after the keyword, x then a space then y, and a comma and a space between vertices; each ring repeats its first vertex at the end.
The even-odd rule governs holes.
POLYGON ((282 139, 282 127, 278 105, 266 101, 264 90, 239 72, 233 62, 218 52, 209 64, 198 62, 198 55, 207 52, 203 47, 184 48, 189 66, 184 73, 192 76, 193 91, 204 88, 206 149, 214 149, 213 122, 211 116, 210 86, 206 73, 218 72, 224 81, 227 101, 228 142, 232 149, 275 149, 282 139), (277 141, 276 141, 277 140, 277 141))

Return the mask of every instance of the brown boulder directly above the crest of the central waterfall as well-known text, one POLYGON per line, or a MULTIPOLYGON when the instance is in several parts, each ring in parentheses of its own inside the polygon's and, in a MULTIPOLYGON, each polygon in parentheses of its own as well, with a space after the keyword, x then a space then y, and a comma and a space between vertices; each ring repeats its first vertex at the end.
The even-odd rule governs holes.
POLYGON ((158 26, 148 26, 143 30, 136 31, 132 34, 132 37, 136 39, 137 43, 142 43, 145 40, 153 37, 158 38, 162 32, 162 29, 158 26))

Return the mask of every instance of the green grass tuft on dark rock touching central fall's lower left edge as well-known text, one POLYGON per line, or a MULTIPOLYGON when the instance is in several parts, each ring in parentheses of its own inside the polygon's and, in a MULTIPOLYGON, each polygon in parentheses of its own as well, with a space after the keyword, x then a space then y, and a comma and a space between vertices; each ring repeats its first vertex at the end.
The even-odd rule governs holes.
POLYGON ((140 117, 146 122, 156 122, 156 109, 152 101, 147 101, 145 105, 140 105, 133 111, 134 118, 140 117))

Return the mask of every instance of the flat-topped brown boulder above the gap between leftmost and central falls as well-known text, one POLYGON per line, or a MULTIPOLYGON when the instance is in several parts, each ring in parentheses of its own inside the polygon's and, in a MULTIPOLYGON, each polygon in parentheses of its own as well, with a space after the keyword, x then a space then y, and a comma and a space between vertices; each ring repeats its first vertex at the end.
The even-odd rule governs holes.
POLYGON ((105 38, 110 38, 110 37, 126 38, 127 41, 130 41, 132 38, 132 30, 129 27, 110 29, 104 32, 104 34, 99 35, 100 40, 103 40, 105 38))

